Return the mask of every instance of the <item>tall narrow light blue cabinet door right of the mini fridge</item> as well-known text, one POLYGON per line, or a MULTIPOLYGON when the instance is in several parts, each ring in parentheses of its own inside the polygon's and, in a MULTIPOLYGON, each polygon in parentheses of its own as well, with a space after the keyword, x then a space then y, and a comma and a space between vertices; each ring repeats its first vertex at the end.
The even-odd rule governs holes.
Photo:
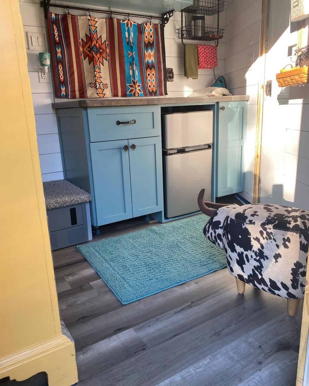
POLYGON ((247 102, 219 103, 217 197, 244 191, 247 102))

